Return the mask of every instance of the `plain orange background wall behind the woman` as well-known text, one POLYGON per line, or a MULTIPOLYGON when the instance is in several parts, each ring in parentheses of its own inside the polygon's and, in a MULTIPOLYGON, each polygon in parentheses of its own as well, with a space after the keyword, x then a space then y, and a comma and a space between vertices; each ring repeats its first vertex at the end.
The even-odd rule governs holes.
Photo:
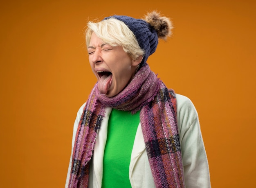
POLYGON ((198 110, 214 188, 254 186, 256 1, 9 1, 0 6, 0 187, 64 187, 72 126, 96 79, 83 30, 112 14, 173 20, 151 69, 198 110))

